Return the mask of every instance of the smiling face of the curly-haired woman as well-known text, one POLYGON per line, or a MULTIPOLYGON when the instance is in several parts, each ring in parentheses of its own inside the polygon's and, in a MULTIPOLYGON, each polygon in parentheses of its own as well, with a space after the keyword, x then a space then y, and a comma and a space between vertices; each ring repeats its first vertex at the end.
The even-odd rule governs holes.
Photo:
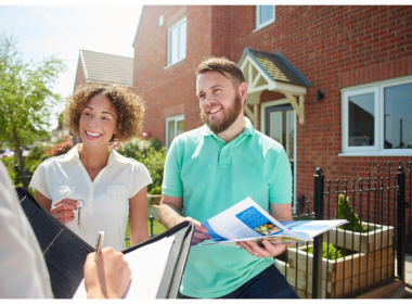
POLYGON ((108 145, 117 131, 117 115, 105 96, 92 97, 80 116, 80 138, 87 147, 108 145))

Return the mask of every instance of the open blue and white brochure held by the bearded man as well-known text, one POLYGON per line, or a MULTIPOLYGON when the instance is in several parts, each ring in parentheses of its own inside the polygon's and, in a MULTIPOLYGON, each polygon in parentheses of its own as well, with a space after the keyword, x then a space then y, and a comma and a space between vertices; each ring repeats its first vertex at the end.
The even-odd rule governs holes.
POLYGON ((307 242, 346 223, 346 219, 278 221, 247 198, 203 223, 202 226, 207 228, 210 240, 195 246, 237 246, 236 242, 248 240, 261 245, 263 239, 272 244, 307 242))

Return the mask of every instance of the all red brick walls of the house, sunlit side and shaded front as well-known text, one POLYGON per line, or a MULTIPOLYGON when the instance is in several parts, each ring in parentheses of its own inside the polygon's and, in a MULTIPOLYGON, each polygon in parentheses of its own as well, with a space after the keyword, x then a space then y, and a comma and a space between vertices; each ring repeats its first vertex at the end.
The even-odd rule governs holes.
MULTIPOLYGON (((145 131, 164 141, 164 115, 175 106, 184 109, 185 130, 201 125, 193 73, 203 59, 214 54, 239 62, 246 47, 279 50, 311 81, 305 124, 297 127, 297 194, 313 200, 318 166, 335 180, 365 177, 368 170, 376 172, 377 164, 412 161, 411 156, 338 156, 340 88, 412 74, 412 5, 278 4, 276 21, 254 33, 255 8, 188 5, 186 59, 165 71, 167 27, 159 28, 158 17, 165 15, 167 24, 182 5, 145 5, 134 46, 134 87, 147 101, 145 131), (325 96, 320 102, 317 90, 325 96)), ((260 101, 283 98, 265 91, 260 101)), ((260 129, 260 106, 258 117, 260 129)))

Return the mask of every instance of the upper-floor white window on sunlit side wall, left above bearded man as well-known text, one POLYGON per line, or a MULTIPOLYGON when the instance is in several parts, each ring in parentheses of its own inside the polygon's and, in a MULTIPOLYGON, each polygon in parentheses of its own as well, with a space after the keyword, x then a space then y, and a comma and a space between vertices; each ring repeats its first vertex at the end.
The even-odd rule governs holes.
POLYGON ((186 56, 186 17, 176 22, 168 29, 167 65, 182 61, 186 56))

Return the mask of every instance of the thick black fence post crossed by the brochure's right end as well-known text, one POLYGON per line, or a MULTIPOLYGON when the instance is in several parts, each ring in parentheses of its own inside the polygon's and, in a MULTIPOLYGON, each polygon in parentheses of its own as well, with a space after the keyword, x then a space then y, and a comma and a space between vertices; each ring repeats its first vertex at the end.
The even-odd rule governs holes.
MULTIPOLYGON (((322 168, 317 168, 317 175, 314 175, 314 214, 318 220, 323 219, 324 176, 322 173, 322 168)), ((312 300, 322 299, 322 249, 323 235, 313 239, 312 300)))

